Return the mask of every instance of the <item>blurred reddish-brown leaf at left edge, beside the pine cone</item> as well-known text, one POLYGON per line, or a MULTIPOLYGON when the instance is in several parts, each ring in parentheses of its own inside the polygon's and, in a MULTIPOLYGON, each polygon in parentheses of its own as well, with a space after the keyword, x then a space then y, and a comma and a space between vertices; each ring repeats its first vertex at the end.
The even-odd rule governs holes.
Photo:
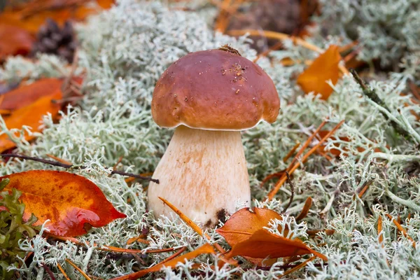
POLYGON ((0 60, 8 55, 27 55, 34 37, 20 27, 0 23, 0 60))

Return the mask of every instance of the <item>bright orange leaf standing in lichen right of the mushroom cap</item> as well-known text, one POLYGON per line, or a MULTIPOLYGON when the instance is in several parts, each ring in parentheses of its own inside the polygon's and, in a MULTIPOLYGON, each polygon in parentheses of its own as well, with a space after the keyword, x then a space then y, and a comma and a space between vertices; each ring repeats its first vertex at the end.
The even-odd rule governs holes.
POLYGON ((297 77, 297 84, 305 93, 315 92, 321 94, 321 99, 328 99, 332 93, 332 87, 326 83, 331 80, 336 84, 339 76, 339 48, 330 45, 328 50, 319 55, 314 62, 297 77))

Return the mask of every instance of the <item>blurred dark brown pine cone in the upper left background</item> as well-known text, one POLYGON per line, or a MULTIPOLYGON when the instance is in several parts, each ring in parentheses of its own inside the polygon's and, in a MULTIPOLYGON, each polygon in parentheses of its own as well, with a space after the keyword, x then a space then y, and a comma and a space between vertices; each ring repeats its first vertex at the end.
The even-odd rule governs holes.
POLYGON ((64 26, 60 28, 57 22, 48 19, 46 24, 38 30, 32 54, 35 55, 37 52, 50 53, 71 63, 76 46, 76 35, 71 22, 64 22, 64 26))

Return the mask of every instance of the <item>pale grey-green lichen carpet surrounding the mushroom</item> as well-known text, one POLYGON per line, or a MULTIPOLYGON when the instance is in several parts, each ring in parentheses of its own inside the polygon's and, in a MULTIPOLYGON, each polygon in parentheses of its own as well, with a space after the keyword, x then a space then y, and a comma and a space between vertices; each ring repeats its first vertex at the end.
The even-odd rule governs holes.
MULTIPOLYGON (((127 184, 121 176, 110 176, 110 167, 122 157, 117 166, 120 170, 153 172, 165 152, 172 131, 155 125, 150 104, 155 82, 169 64, 188 52, 218 48, 225 43, 230 43, 245 57, 255 58, 255 51, 246 45, 246 38, 237 40, 214 34, 199 14, 167 8, 157 1, 119 1, 118 6, 79 25, 77 31, 81 43, 77 73, 86 71, 85 98, 78 106, 69 107, 59 123, 45 116, 45 130, 35 143, 15 139, 18 153, 41 158, 50 153, 86 166, 86 169, 71 172, 96 183, 127 218, 78 237, 85 246, 47 240, 41 235, 23 241, 21 248, 34 252, 34 258, 29 265, 18 269, 22 279, 48 279, 44 264, 57 279, 64 279, 57 263, 71 279, 82 279, 65 262, 66 258, 87 274, 110 279, 155 265, 173 253, 147 253, 148 250, 186 246, 186 251, 193 251, 204 244, 206 239, 188 225, 164 216, 153 217, 146 209, 144 187, 147 183, 127 184), (130 238, 142 233, 147 233, 149 244, 127 245, 130 238), (144 254, 111 253, 98 250, 100 246, 143 249, 144 254)), ((325 48, 329 43, 323 41, 319 46, 325 48)), ((281 113, 273 125, 260 123, 242 135, 254 205, 283 211, 290 198, 290 186, 283 186, 274 200, 263 202, 275 180, 260 186, 262 179, 285 169, 290 160, 283 162, 283 158, 290 149, 297 142, 304 143, 325 118, 329 118, 325 130, 345 120, 327 144, 328 148, 340 151, 341 157, 332 156, 328 160, 315 153, 304 167, 297 169, 293 174, 295 196, 286 211, 289 216, 269 225, 274 234, 281 234, 276 230, 278 225, 287 225, 294 237, 302 238, 308 246, 329 258, 321 267, 322 262, 312 262, 293 277, 416 279, 420 274, 420 244, 414 248, 385 216, 400 216, 409 236, 416 242, 419 240, 420 123, 416 116, 420 108, 402 94, 407 91, 407 77, 411 72, 394 73, 386 82, 370 83, 390 111, 384 111, 384 107, 367 99, 350 76, 344 76, 333 86, 334 92, 325 102, 314 94, 303 95, 295 85, 295 74, 304 68, 298 62, 316 54, 290 42, 286 45, 288 50, 272 52, 271 64, 266 58, 258 60, 276 84, 282 102, 281 113), (297 63, 282 66, 279 59, 286 56, 293 57, 297 63), (395 132, 384 114, 409 132, 409 136, 402 137, 395 132), (366 184, 370 186, 359 198, 358 193, 366 184), (293 216, 299 214, 307 197, 314 201, 311 211, 304 223, 296 223, 293 216), (383 220, 382 244, 379 244, 377 232, 379 216, 383 220), (329 229, 335 233, 328 236, 320 232, 314 238, 308 237, 307 229, 329 229)), ((56 57, 41 56, 34 63, 15 57, 8 59, 0 70, 0 79, 36 80, 62 76, 63 71, 67 73, 69 69, 56 57)), ((0 133, 12 135, 1 118, 0 129, 0 133)), ((10 160, 1 164, 0 175, 31 169, 55 167, 10 160)), ((208 233, 211 242, 227 246, 214 230, 208 233)), ((216 256, 203 255, 177 269, 165 268, 145 279, 276 279, 283 273, 279 269, 283 260, 269 270, 256 269, 247 260, 241 260, 243 264, 239 267, 218 267, 216 256), (196 262, 201 262, 202 266, 193 268, 196 262)))

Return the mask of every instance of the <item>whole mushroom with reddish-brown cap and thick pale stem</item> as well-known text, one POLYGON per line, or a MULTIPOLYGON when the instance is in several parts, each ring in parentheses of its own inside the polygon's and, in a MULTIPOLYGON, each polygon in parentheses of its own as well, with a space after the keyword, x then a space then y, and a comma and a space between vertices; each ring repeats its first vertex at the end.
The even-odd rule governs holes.
POLYGON ((163 197, 206 228, 251 191, 241 130, 261 120, 273 123, 279 94, 260 66, 224 47, 192 52, 174 62, 156 83, 152 116, 160 127, 176 127, 148 187, 148 208, 171 213, 163 197))

